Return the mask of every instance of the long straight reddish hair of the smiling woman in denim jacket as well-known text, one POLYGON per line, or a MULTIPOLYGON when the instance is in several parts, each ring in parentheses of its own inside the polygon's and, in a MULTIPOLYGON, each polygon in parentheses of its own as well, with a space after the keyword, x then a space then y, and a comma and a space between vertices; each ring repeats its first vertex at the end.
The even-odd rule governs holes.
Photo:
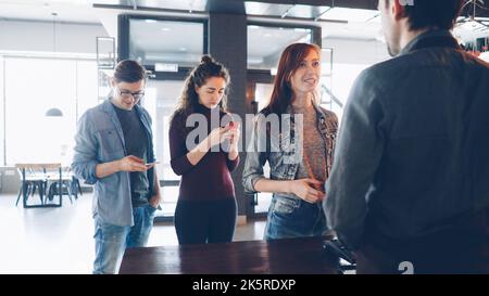
POLYGON ((310 51, 321 54, 321 48, 312 43, 292 43, 281 53, 278 62, 277 75, 274 80, 274 91, 269 103, 262 110, 265 115, 277 114, 280 116, 292 102, 292 87, 290 79, 299 68, 300 63, 308 56, 310 51))

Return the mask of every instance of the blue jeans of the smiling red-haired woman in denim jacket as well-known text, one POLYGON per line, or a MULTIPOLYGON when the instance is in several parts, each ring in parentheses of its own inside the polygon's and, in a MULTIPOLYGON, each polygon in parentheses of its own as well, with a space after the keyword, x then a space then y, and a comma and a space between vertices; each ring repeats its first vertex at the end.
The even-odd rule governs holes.
POLYGON ((327 233, 326 217, 321 203, 274 196, 268 209, 265 240, 322 236, 327 233))

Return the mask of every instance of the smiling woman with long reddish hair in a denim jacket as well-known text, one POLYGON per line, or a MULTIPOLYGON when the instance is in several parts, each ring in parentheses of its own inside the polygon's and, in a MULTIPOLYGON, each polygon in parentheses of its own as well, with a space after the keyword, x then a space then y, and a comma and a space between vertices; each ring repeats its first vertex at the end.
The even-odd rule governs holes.
POLYGON ((287 47, 279 60, 271 101, 255 117, 243 185, 249 193, 273 193, 266 240, 321 236, 327 230, 321 202, 333 164, 338 119, 317 105, 319 78, 317 46, 287 47), (287 118, 290 120, 284 120, 287 118), (278 128, 273 128, 274 121, 278 121, 278 128), (269 179, 263 173, 266 162, 269 179))

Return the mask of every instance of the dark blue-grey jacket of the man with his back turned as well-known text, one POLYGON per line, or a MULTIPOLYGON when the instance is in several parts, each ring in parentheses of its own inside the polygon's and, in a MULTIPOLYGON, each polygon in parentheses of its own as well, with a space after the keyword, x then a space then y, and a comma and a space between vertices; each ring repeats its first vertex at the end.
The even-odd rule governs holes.
POLYGON ((330 227, 429 235, 489 206, 489 65, 428 31, 365 69, 348 100, 327 181, 330 227))

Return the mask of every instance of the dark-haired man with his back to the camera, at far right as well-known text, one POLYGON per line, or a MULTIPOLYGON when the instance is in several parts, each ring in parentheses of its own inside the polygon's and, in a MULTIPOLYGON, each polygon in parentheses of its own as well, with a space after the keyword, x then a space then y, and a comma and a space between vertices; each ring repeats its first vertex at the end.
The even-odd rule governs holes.
POLYGON ((463 2, 378 2, 396 57, 352 88, 324 202, 358 273, 489 272, 489 65, 450 33, 463 2))

